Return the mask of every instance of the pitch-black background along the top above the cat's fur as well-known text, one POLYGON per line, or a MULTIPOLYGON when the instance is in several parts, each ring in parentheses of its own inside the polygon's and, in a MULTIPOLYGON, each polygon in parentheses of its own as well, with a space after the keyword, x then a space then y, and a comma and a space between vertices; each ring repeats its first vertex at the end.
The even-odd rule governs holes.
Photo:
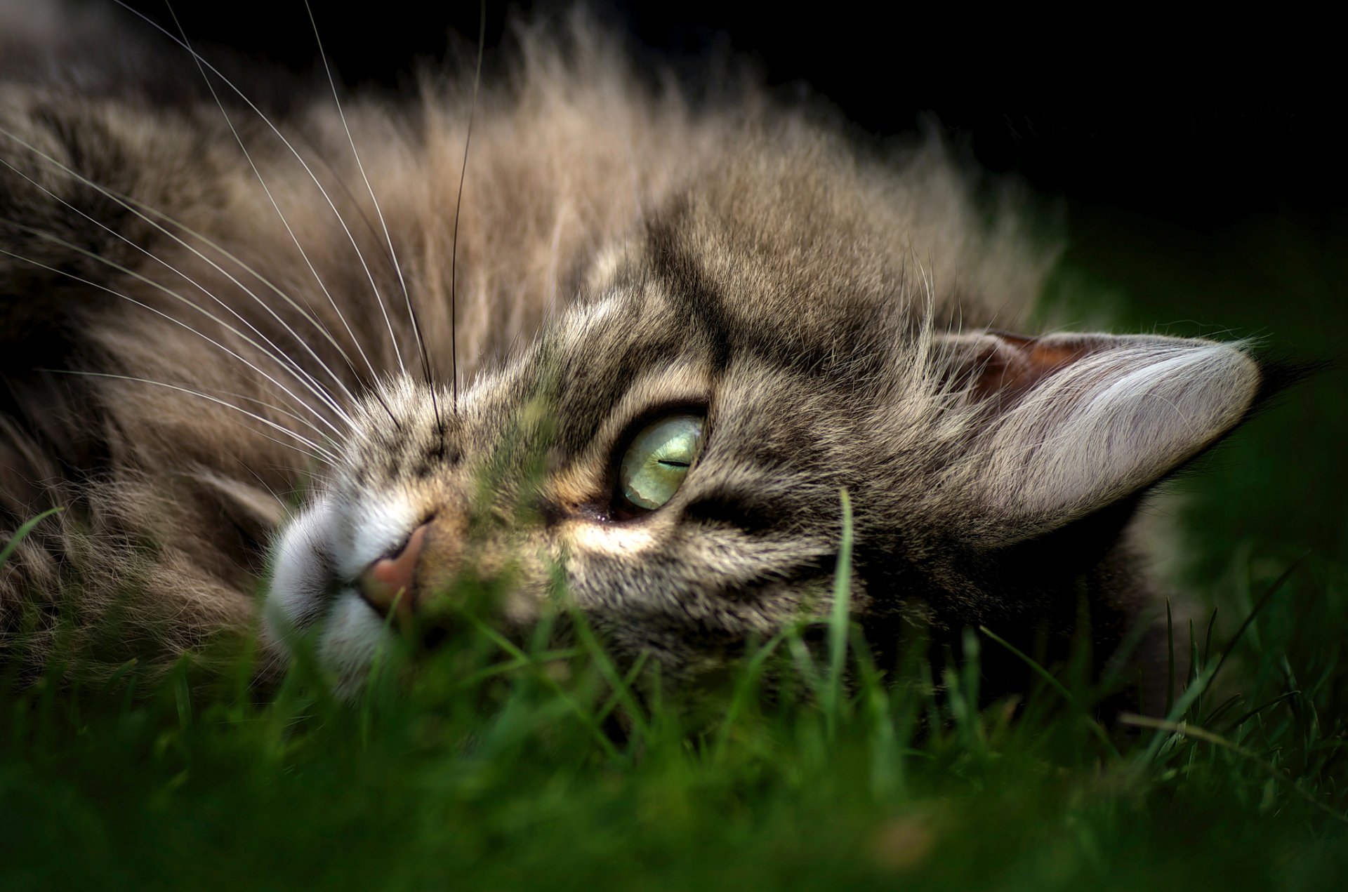
MULTIPOLYGON (((348 86, 404 85, 414 59, 443 58, 450 32, 476 44, 477 3, 311 1, 348 86)), ((162 0, 132 5, 170 22, 162 0)), ((510 9, 561 5, 488 3, 488 59, 510 9)), ((1182 20, 1178 11, 1093 7, 1031 20, 856 3, 599 8, 665 61, 696 66, 731 49, 774 88, 822 96, 872 133, 934 117, 984 167, 1016 172, 1069 206, 1212 230, 1247 214, 1320 216, 1348 203, 1341 50, 1329 43, 1337 31, 1281 9, 1182 20)), ((174 11, 194 42, 297 70, 315 59, 302 0, 179 0, 174 11)))

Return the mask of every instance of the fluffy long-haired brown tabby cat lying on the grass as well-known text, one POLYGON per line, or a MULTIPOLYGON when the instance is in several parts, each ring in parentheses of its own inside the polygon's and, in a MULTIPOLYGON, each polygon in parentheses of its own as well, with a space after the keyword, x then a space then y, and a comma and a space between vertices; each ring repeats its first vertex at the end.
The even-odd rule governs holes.
POLYGON ((359 690, 468 577, 696 686, 828 616, 844 493, 880 654, 1051 652, 1084 600, 1099 668, 1148 623, 1138 505, 1267 392, 1247 344, 1014 333, 1055 248, 938 137, 516 34, 480 89, 338 104, 0 7, 0 511, 63 508, 0 569, 11 645, 106 674, 260 628, 262 674, 303 640, 359 690))

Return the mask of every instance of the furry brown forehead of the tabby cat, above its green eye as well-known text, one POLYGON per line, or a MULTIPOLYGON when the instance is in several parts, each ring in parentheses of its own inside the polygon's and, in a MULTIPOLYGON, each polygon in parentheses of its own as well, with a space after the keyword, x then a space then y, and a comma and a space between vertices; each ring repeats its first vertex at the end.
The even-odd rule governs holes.
POLYGON ((507 403, 546 395, 580 449, 612 416, 737 397, 767 423, 783 400, 883 389, 921 323, 902 251, 807 162, 728 163, 651 209, 545 325, 507 403))

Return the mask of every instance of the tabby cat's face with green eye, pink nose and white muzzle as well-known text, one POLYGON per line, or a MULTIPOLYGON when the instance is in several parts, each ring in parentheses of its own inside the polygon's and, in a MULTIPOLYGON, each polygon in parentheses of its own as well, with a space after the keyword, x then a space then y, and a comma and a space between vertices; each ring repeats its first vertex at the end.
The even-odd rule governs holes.
POLYGON ((499 624, 528 628, 558 596, 675 676, 826 609, 838 490, 865 486, 859 441, 876 434, 883 367, 902 361, 874 331, 894 329, 898 305, 875 303, 852 333, 863 349, 841 319, 732 325, 723 296, 648 257, 604 265, 457 404, 398 379, 360 407, 332 485, 276 550, 275 633, 311 629, 324 662, 357 679, 398 633, 372 575, 394 565, 388 585, 418 618, 456 621, 456 579, 495 579, 499 624), (833 368, 855 357, 868 373, 833 368))

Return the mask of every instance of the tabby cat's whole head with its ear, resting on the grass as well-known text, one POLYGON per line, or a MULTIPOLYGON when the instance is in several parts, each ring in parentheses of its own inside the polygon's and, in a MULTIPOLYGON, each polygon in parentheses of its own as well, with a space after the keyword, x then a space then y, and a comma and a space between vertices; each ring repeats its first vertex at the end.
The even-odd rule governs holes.
POLYGON ((1240 422, 1256 362, 954 326, 868 201, 771 170, 702 183, 457 395, 387 381, 279 538, 270 632, 356 684, 394 627, 454 623, 489 579, 503 628, 562 598, 694 678, 826 614, 844 489, 863 618, 1033 625, 1082 581, 1126 600, 1108 558, 1134 496, 1240 422))

